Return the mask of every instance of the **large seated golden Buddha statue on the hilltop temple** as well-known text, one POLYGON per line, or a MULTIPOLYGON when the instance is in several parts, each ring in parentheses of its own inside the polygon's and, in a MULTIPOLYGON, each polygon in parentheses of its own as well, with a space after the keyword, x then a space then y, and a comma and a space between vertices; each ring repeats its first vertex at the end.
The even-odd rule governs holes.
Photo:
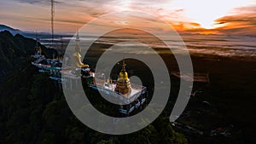
POLYGON ((89 68, 89 65, 84 65, 84 63, 81 60, 81 48, 79 47, 79 44, 76 44, 75 47, 75 53, 73 54, 73 68, 89 68))

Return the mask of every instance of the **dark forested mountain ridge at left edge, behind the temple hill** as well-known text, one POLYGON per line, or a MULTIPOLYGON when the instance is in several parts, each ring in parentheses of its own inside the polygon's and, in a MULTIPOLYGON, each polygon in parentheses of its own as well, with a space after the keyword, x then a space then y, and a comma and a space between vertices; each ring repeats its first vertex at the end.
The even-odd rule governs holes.
MULTIPOLYGON (((0 32, 0 83, 7 77, 9 72, 18 71, 22 63, 30 60, 30 55, 35 53, 36 40, 23 37, 20 34, 12 35, 9 31, 0 32)), ((47 49, 41 45, 43 54, 46 57, 57 55, 55 49, 47 49)))

